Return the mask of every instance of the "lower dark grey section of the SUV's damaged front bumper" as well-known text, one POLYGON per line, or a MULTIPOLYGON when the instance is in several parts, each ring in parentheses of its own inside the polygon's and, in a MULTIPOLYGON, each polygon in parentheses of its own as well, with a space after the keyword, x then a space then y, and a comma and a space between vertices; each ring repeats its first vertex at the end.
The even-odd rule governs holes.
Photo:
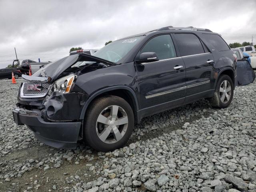
POLYGON ((16 107, 14 122, 26 125, 41 142, 55 148, 76 148, 81 122, 46 122, 40 110, 16 107))

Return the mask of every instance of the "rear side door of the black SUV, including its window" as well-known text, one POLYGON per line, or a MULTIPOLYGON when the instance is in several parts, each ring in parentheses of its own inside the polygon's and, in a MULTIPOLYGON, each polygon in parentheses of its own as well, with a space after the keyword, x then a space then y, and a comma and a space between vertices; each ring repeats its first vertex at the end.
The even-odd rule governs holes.
POLYGON ((186 66, 186 102, 203 98, 211 89, 214 58, 203 42, 193 33, 174 34, 186 66))

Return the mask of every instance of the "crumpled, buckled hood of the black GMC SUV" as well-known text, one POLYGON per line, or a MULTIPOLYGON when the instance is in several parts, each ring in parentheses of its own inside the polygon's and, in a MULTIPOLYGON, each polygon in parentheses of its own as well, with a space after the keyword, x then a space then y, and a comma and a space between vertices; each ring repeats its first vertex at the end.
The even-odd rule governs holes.
POLYGON ((56 80, 62 72, 64 72, 67 68, 72 66, 76 61, 102 62, 110 66, 116 65, 116 63, 110 62, 108 60, 104 60, 102 58, 95 57, 89 54, 80 53, 70 55, 60 60, 54 61, 50 64, 47 64, 40 68, 40 70, 35 72, 32 76, 22 75, 22 77, 30 81, 41 81, 40 79, 47 79, 48 82, 52 82, 56 80))

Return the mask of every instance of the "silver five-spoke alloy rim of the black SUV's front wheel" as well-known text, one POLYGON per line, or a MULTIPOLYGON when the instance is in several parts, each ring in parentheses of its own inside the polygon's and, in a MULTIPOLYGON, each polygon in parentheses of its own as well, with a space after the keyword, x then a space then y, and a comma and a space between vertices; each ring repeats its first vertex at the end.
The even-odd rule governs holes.
POLYGON ((113 144, 121 140, 128 128, 128 116, 125 110, 117 105, 106 107, 99 114, 96 132, 102 142, 113 144))

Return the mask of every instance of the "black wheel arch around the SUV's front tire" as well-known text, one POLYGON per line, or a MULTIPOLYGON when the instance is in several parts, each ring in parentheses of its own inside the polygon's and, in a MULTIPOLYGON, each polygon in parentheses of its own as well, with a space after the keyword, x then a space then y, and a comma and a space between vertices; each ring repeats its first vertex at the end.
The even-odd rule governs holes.
POLYGON ((90 106, 90 104, 99 97, 105 96, 105 95, 114 95, 119 96, 126 100, 130 106, 132 107, 132 110, 134 112, 134 120, 135 122, 140 121, 140 115, 138 115, 139 111, 139 104, 136 97, 135 92, 132 90, 132 88, 128 86, 112 86, 108 88, 104 88, 102 90, 99 90, 92 94, 86 101, 84 107, 82 108, 81 114, 80 114, 80 120, 84 119, 84 116, 86 114, 87 108, 90 106))

